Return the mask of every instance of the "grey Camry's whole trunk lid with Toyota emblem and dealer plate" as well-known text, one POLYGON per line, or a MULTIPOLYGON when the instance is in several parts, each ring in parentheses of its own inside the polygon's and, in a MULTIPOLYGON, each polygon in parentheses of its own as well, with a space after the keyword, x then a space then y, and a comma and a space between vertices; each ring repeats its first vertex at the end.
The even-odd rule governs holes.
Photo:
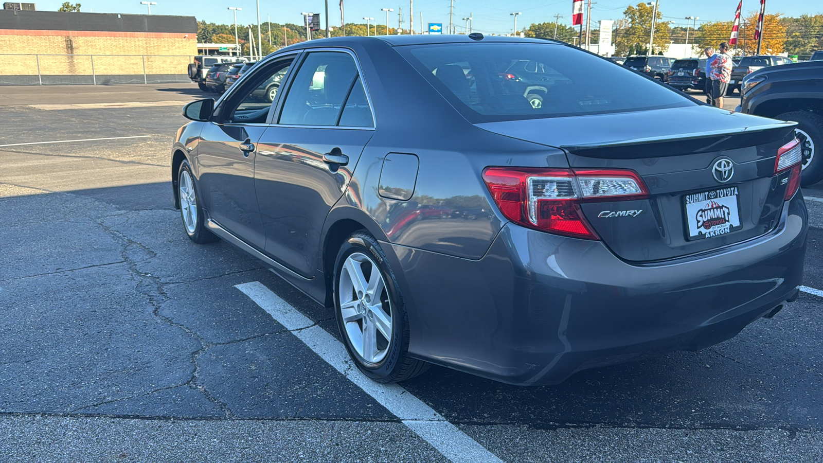
POLYGON ((774 228, 783 207, 788 172, 774 175, 775 157, 793 138, 791 123, 700 106, 477 125, 561 147, 572 169, 635 171, 648 199, 581 204, 624 260, 670 260, 745 241, 774 228))

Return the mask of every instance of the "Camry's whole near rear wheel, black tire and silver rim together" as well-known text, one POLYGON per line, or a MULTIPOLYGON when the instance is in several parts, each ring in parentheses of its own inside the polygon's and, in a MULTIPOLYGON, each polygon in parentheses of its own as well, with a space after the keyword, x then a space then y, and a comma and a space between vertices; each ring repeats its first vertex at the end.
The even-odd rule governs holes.
POLYGON ((429 363, 408 356, 408 316, 398 282, 365 230, 352 233, 337 253, 334 313, 343 344, 365 376, 396 382, 429 369, 429 363))

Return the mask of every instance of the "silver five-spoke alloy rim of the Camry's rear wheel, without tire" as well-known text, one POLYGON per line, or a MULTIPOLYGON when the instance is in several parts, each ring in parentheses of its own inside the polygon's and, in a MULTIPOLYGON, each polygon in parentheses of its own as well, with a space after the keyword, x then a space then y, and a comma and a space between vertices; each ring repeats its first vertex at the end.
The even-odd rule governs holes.
POLYGON ((393 311, 383 275, 369 256, 346 257, 337 297, 351 347, 366 362, 382 361, 392 344, 393 311))

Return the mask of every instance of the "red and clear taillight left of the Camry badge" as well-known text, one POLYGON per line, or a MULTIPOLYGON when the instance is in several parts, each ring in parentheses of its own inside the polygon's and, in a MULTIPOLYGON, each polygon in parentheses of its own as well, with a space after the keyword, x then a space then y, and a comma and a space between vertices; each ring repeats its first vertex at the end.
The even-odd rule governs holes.
POLYGON ((634 171, 486 167, 483 180, 500 212, 512 222, 587 240, 600 237, 580 203, 649 197, 634 171))

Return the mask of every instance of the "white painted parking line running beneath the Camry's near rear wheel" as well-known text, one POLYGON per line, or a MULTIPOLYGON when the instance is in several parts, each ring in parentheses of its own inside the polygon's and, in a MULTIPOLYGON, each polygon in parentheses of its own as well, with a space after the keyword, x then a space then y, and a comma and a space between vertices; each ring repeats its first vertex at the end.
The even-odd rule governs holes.
POLYGON ((315 325, 312 320, 283 301, 262 283, 243 283, 236 285, 235 288, 249 296, 274 320, 285 326, 286 330, 290 330, 314 350, 320 358, 341 372, 349 381, 360 386, 366 394, 374 397, 374 400, 401 419, 403 424, 422 437, 425 442, 429 442, 450 461, 455 463, 500 461, 472 437, 468 437, 466 433, 449 423, 442 415, 435 412, 429 405, 425 405, 422 400, 403 389, 402 386, 371 381, 351 363, 351 358, 340 341, 315 325))

